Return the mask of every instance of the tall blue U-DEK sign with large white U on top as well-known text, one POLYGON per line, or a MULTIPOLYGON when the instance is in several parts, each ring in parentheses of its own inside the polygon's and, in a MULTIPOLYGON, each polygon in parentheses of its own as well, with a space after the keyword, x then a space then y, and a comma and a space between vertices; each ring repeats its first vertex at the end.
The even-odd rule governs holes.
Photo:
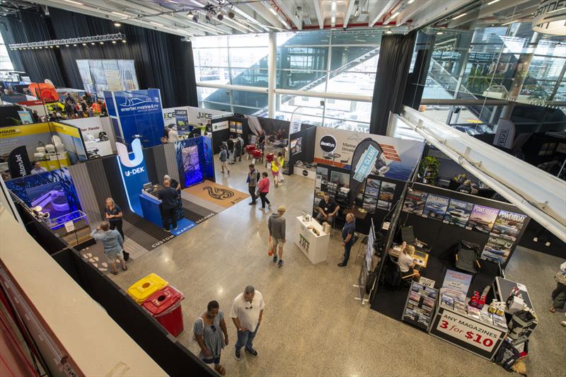
POLYGON ((128 153, 127 146, 122 143, 116 143, 118 151, 118 165, 120 166, 120 176, 128 199, 129 209, 132 209, 139 216, 144 216, 139 202, 139 195, 144 183, 149 182, 147 175, 146 161, 144 160, 144 151, 141 149, 139 139, 132 141, 131 153, 128 153))

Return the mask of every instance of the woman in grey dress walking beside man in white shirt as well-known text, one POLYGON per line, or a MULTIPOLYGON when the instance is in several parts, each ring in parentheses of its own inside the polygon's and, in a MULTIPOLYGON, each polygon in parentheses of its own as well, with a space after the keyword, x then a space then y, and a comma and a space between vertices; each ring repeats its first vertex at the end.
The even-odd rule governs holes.
POLYGON ((206 364, 214 363, 214 370, 224 376, 226 369, 220 364, 220 354, 228 345, 228 331, 218 301, 208 303, 207 311, 195 320, 192 331, 200 347, 200 359, 206 364))

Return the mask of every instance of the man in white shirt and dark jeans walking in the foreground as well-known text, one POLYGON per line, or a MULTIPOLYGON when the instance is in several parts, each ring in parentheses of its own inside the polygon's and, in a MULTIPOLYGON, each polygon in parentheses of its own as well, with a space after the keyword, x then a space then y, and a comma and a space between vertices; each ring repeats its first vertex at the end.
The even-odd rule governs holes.
POLYGON ((238 361, 241 359, 240 350, 243 346, 246 346, 248 354, 258 357, 258 352, 253 349, 253 338, 260 327, 263 308, 263 296, 251 285, 246 286, 243 293, 234 298, 230 316, 238 330, 238 341, 234 350, 234 357, 238 361))

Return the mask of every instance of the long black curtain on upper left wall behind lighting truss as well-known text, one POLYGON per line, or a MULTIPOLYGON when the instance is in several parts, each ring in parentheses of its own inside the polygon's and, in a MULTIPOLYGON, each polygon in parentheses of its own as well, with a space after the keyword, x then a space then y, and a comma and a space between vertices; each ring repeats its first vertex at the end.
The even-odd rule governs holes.
POLYGON ((134 25, 123 24, 117 28, 110 20, 57 8, 50 8, 49 17, 22 11, 21 18, 23 23, 13 19, 2 20, 8 23, 8 28, 13 29, 13 37, 6 42, 35 42, 113 33, 124 33, 127 39, 127 43, 105 42, 104 45, 10 51, 11 56, 21 57, 23 70, 29 73, 33 81, 51 79, 57 86, 83 88, 76 59, 133 59, 139 87, 161 89, 163 107, 198 106, 192 45, 182 42, 178 35, 134 25))

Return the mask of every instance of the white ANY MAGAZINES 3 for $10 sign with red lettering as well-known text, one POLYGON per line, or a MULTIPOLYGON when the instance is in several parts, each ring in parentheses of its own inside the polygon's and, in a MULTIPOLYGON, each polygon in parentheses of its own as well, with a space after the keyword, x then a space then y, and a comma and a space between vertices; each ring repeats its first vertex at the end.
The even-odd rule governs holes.
POLYGON ((502 332, 451 311, 444 311, 436 330, 485 352, 492 352, 502 332))

